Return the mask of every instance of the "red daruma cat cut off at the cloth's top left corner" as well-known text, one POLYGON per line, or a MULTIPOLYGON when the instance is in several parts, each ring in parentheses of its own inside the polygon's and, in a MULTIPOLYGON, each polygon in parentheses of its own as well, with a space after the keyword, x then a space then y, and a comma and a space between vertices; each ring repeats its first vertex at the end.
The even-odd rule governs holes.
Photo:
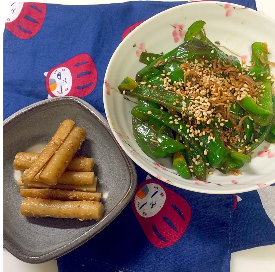
POLYGON ((46 9, 44 3, 13 3, 7 15, 5 28, 20 39, 32 38, 42 27, 46 9))

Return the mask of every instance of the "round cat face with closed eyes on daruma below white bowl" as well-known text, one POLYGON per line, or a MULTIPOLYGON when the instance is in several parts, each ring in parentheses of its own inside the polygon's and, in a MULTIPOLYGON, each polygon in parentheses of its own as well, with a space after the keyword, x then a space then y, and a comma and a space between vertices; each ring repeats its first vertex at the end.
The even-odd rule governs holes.
POLYGON ((135 195, 135 208, 142 217, 148 218, 156 215, 163 207, 166 193, 156 183, 144 185, 135 195))

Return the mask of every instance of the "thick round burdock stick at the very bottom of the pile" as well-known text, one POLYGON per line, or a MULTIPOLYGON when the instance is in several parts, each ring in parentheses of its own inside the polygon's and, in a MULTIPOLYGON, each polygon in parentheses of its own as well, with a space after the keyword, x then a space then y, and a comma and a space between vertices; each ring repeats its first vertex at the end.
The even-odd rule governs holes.
POLYGON ((21 214, 31 217, 77 218, 80 220, 102 218, 104 207, 98 201, 61 201, 41 198, 24 198, 21 214))

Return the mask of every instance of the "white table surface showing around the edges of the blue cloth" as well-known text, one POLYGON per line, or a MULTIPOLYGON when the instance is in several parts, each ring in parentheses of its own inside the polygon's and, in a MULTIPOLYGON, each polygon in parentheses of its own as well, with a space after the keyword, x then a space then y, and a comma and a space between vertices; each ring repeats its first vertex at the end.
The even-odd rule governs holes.
MULTIPOLYGON (((136 0, 133 0, 136 1, 136 0)), ((176 1, 176 0, 166 0, 176 1)), ((7 10, 13 0, 3 1, 1 3, 7 10)), ((26 2, 31 2, 27 1, 26 2)), ((34 0, 34 2, 55 3, 66 5, 93 5, 103 3, 121 3, 125 0, 34 0)), ((230 0, 229 0, 230 2, 230 0)), ((273 0, 256 0, 257 9, 259 12, 275 19, 275 1, 273 0)), ((2 17, 2 29, 5 27, 4 19, 2 17)), ((247 250, 238 251, 231 254, 230 271, 231 272, 275 272, 275 245, 261 246, 247 250)), ((24 263, 16 259, 7 250, 4 249, 4 272, 58 272, 55 260, 32 265, 24 263)))

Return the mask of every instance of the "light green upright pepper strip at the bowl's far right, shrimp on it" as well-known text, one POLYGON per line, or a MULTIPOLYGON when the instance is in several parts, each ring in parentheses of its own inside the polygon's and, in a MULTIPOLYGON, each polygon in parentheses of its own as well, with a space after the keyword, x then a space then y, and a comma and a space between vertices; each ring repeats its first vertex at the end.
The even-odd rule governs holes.
MULTIPOLYGON (((255 63, 256 66, 262 67, 264 63, 262 63, 260 57, 264 59, 264 61, 268 60, 268 51, 267 48, 263 43, 256 42, 252 44, 252 55, 251 55, 251 61, 252 63, 255 63)), ((265 109, 267 111, 270 111, 273 115, 272 110, 272 89, 271 89, 271 80, 267 79, 267 77, 270 76, 270 70, 269 65, 264 65, 264 78, 262 80, 262 84, 266 86, 264 89, 264 92, 262 94, 264 95, 261 99, 259 99, 260 103, 262 105, 262 109, 265 109)), ((253 111, 252 111, 253 112, 253 111)))

